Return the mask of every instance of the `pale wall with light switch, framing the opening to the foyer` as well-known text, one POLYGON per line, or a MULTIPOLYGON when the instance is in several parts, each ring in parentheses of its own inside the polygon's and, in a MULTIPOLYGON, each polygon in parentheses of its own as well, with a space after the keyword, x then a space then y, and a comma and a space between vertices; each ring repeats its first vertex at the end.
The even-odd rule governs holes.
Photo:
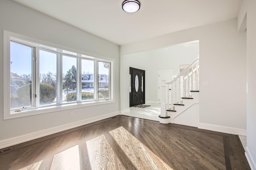
MULTIPOLYGON (((200 43, 199 122, 246 129, 246 33, 237 32, 236 19, 123 45, 121 67, 123 55, 195 40, 200 43), (202 86, 203 81, 209 86, 202 86)), ((126 73, 121 72, 123 76, 126 73)), ((126 109, 128 96, 123 87, 121 96, 121 109, 126 109)))

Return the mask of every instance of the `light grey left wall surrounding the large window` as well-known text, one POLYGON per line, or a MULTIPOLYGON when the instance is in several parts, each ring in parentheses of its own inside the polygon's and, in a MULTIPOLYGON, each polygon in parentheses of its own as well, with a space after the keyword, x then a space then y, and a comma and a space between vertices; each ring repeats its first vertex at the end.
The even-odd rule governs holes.
POLYGON ((115 103, 3 120, 3 81, 0 81, 0 141, 119 111, 119 46, 31 10, 11 0, 0 1, 0 80, 3 80, 3 30, 115 59, 115 103))

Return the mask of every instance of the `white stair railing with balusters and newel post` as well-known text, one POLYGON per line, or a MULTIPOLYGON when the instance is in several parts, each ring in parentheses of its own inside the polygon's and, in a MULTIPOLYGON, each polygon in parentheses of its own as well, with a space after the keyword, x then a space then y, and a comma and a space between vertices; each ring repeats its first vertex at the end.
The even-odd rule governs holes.
POLYGON ((166 85, 167 109, 175 110, 174 104, 182 104, 182 98, 191 98, 190 91, 199 91, 199 56, 171 82, 166 82, 166 85))

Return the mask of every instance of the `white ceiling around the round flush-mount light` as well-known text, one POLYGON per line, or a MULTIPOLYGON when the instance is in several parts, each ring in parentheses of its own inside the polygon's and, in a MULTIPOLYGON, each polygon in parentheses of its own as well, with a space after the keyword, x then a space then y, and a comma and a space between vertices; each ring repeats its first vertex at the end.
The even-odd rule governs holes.
POLYGON ((118 45, 236 18, 242 0, 139 0, 138 12, 124 0, 14 0, 118 45))

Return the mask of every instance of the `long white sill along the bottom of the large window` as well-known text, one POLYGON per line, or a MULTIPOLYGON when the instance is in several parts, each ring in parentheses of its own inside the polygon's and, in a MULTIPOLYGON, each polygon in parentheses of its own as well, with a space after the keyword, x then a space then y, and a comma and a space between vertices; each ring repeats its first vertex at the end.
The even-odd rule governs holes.
POLYGON ((26 117, 31 115, 38 115, 43 113, 51 113, 51 112, 62 111, 62 110, 76 109, 80 107, 110 104, 110 103, 114 103, 114 100, 99 100, 99 101, 92 101, 92 102, 81 102, 81 103, 49 106, 49 107, 32 108, 32 109, 22 110, 19 112, 9 113, 8 115, 4 114, 4 120, 14 119, 18 117, 26 117))

